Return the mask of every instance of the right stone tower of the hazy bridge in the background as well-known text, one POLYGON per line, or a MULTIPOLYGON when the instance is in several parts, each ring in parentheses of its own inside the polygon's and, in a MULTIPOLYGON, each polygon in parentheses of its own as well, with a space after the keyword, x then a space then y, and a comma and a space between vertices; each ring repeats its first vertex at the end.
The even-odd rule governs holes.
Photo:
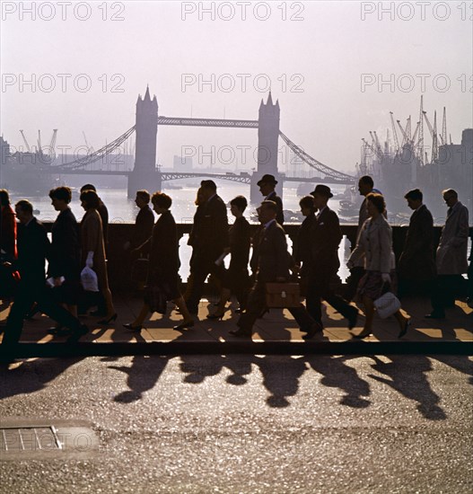
POLYGON ((265 174, 270 173, 276 177, 277 194, 283 195, 283 182, 277 172, 277 142, 279 139, 279 101, 273 104, 271 91, 267 96, 267 103, 261 100, 258 115, 258 168, 253 173, 250 186, 250 201, 258 203, 262 200, 257 185, 258 180, 265 174))

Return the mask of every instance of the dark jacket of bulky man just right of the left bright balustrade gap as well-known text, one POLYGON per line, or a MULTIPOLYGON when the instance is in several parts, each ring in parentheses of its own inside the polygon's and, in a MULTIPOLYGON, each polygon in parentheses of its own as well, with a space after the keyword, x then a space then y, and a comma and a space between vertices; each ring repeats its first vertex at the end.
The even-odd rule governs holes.
POLYGON ((215 195, 197 207, 189 242, 197 256, 213 260, 228 247, 227 208, 222 198, 215 195))

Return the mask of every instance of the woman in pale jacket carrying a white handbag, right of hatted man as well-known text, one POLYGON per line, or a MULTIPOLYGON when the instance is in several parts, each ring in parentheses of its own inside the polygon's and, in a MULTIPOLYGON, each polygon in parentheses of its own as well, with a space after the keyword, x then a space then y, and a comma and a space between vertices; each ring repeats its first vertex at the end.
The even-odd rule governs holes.
MULTIPOLYGON (((366 208, 370 216, 362 226, 356 247, 351 253, 348 269, 355 266, 355 261, 364 254, 364 269, 366 274, 358 284, 357 293, 362 297, 366 320, 364 329, 355 338, 365 338, 372 333, 372 318, 374 301, 382 295, 387 285, 392 289, 395 284, 395 261, 392 251, 392 230, 383 216, 386 203, 381 194, 370 193, 366 196, 366 208)), ((400 310, 394 313, 399 322, 399 335, 402 338, 410 324, 410 318, 405 317, 400 310)))

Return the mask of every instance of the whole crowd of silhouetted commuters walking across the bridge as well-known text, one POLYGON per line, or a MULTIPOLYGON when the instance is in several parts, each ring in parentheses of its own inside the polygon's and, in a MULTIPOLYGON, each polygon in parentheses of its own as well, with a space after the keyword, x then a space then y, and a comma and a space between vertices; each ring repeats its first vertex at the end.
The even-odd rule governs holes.
MULTIPOLYGON (((276 184, 275 177, 269 174, 258 181, 264 200, 257 208, 260 225, 251 234, 244 216, 247 199, 237 196, 230 201, 235 219, 229 225, 227 206, 217 194, 215 182, 201 181, 188 239, 192 256, 185 293, 180 290, 179 236, 171 213, 172 199, 163 192, 151 196, 146 190, 138 190, 139 213, 134 233, 124 247, 144 300, 136 319, 123 326, 129 331, 141 331, 149 314, 166 313, 171 301, 182 315, 174 329, 191 328, 209 277, 217 281, 220 300, 206 317, 222 319, 234 296, 239 304, 239 320, 237 329, 230 332, 241 338, 250 338, 254 323, 267 311, 268 283, 299 284, 305 304, 298 302, 287 308, 305 340, 324 330, 322 299, 346 318, 350 330, 356 327, 359 315, 352 301, 361 303, 365 319, 363 330, 354 334, 358 339, 372 333, 373 314, 376 307, 380 310, 377 302, 387 293, 398 293, 401 299, 407 294, 428 293, 432 311, 425 317, 442 319, 445 308, 454 304, 462 275, 468 272, 468 302, 473 304, 471 256, 467 259, 469 212, 455 190, 442 192, 448 210, 436 251, 434 220, 423 203, 422 191, 407 192, 405 198, 413 214, 396 264, 385 199, 380 190, 374 189, 370 176, 361 177, 358 190, 364 201, 356 245, 347 261, 350 277, 342 290, 337 276, 342 233, 337 213, 328 206, 333 197, 331 190, 319 184, 311 195, 301 199, 304 220, 290 253, 283 202, 276 194, 276 184), (156 222, 153 211, 159 216, 156 222), (230 256, 228 268, 226 256, 230 256)), ((49 198, 58 212, 51 241, 45 226, 33 216, 31 202, 19 200, 13 210, 8 191, 0 190, 0 298, 13 301, 4 326, 4 346, 18 343, 24 320, 36 312, 55 320, 57 325, 50 332, 66 335, 71 342, 89 331, 79 316, 91 307, 97 308, 91 314, 99 318, 101 325, 110 325, 118 317, 107 272, 107 207, 92 184, 84 185, 80 200, 85 213, 78 224, 69 206, 72 193, 68 187, 50 190, 49 198)), ((402 338, 409 329, 410 318, 401 311, 400 304, 391 313, 399 323, 402 338)))

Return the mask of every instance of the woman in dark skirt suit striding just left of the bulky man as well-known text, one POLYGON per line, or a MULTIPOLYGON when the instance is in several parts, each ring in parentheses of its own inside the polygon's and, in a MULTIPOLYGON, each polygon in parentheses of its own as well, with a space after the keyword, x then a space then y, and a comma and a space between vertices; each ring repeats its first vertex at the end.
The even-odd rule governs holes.
POLYGON ((149 252, 145 303, 135 321, 124 324, 124 327, 127 330, 140 331, 148 313, 166 313, 166 303, 171 300, 184 317, 174 329, 190 328, 194 326, 194 321, 179 289, 179 243, 176 222, 170 211, 172 199, 163 192, 154 192, 151 201, 154 211, 160 217, 153 226, 151 238, 134 251, 149 252))

